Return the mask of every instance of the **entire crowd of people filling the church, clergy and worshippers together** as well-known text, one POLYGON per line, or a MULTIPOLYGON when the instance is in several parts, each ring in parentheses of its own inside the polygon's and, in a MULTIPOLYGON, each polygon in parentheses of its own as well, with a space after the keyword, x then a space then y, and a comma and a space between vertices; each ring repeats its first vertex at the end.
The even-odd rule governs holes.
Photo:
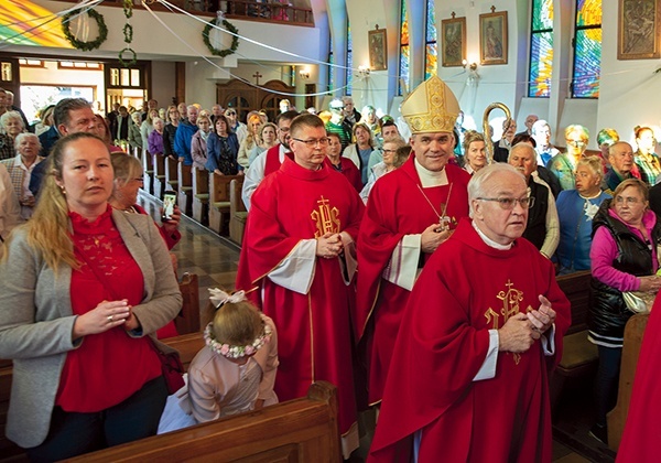
POLYGON ((67 98, 29 126, 0 89, 8 437, 52 461, 328 380, 345 459, 360 445, 358 411, 378 407, 370 461, 549 462, 550 372, 571 325, 555 277, 590 270, 590 432, 606 442, 626 295, 661 288, 652 128, 633 130, 636 150, 603 129, 593 151, 571 125, 561 149, 530 115, 491 142, 464 129, 435 76, 400 110, 378 117, 343 97, 299 112, 282 100, 275 120, 254 110, 243 123, 220 105, 150 99, 104 117, 67 98), (236 292, 212 294, 208 347, 175 394, 158 338, 176 335, 180 212, 156 228, 137 204, 133 149, 241 175, 249 211, 236 292))

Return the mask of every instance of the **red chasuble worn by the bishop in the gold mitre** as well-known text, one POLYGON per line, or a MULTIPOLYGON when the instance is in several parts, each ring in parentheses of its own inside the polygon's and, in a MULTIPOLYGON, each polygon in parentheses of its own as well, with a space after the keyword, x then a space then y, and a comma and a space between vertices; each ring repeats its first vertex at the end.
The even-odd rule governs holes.
MULTIPOLYGON (((402 312, 409 291, 381 278, 392 251, 404 235, 421 234, 440 222, 452 184, 445 212, 455 228, 468 216, 468 173, 446 165, 447 185, 422 189, 412 155, 400 169, 383 175, 375 184, 362 224, 358 246, 358 292, 356 332, 361 337, 373 312, 373 325, 366 333, 369 356, 369 402, 381 400, 402 312), (424 192, 424 193, 423 193, 424 192)), ((422 255, 423 261, 430 255, 422 255)))

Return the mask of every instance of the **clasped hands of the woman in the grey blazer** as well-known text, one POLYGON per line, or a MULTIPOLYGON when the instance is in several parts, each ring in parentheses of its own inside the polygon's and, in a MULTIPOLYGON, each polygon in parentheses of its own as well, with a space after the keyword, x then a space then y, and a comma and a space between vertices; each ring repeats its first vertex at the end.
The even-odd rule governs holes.
POLYGON ((83 315, 76 317, 74 322, 73 338, 86 336, 88 334, 105 333, 116 326, 123 325, 126 331, 139 327, 138 319, 133 314, 129 301, 102 301, 83 315))

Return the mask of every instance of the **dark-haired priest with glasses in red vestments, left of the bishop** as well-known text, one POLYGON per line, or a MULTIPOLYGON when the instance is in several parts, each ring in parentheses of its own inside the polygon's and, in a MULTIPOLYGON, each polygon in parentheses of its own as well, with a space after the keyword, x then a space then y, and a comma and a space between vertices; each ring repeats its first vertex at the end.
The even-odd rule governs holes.
MULTIPOLYGON (((238 274, 250 276, 263 312, 278 326, 280 400, 304 397, 317 380, 337 386, 346 459, 358 448, 349 308, 364 205, 347 179, 324 162, 322 119, 301 115, 290 134, 294 160, 284 158, 252 195, 238 274)), ((239 280, 237 289, 251 289, 239 280)))

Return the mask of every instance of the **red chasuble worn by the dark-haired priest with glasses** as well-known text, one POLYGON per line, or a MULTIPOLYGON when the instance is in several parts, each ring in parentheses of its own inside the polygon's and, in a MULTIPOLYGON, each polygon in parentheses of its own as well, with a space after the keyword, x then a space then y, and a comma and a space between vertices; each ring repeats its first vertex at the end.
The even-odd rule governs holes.
MULTIPOLYGON (((343 434, 356 422, 349 319, 354 287, 344 283, 339 258, 316 259, 307 294, 278 286, 268 274, 301 240, 327 232, 346 232, 356 240, 362 211, 360 196, 340 173, 326 165, 310 171, 285 159, 252 196, 239 262, 248 267, 252 284, 260 286, 263 312, 278 326, 279 399, 303 397, 316 380, 333 383, 343 434)), ((237 281, 238 289, 241 283, 237 281)))

